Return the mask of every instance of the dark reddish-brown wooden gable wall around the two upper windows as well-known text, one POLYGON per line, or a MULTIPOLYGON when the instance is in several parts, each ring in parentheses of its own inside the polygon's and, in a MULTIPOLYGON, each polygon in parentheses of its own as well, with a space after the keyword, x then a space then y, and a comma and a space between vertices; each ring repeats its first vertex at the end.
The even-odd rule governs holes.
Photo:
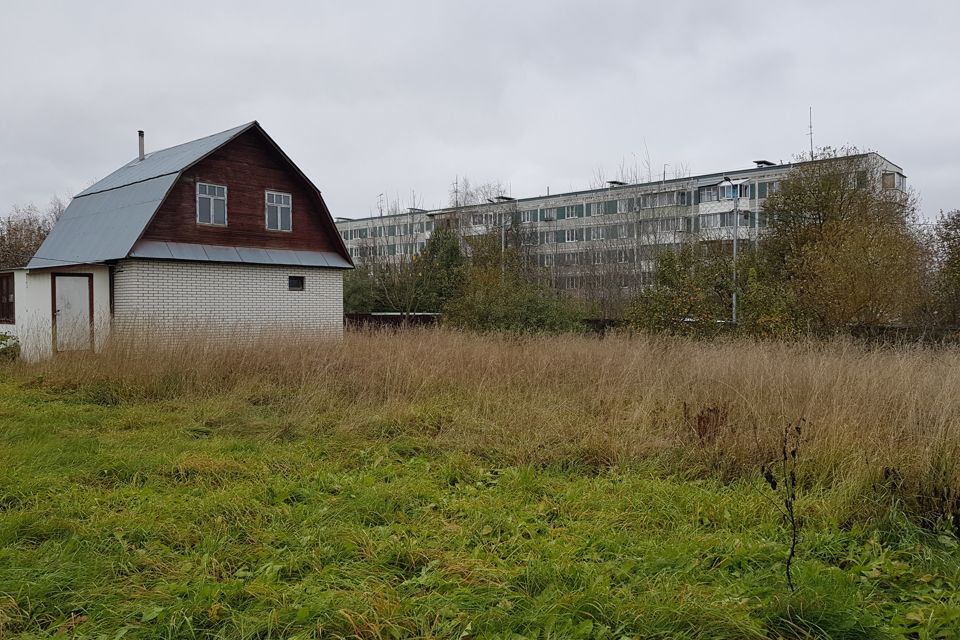
POLYGON ((333 251, 350 260, 319 192, 258 125, 185 169, 141 239, 333 251), (227 226, 197 223, 198 181, 227 187, 227 226), (267 190, 291 194, 292 231, 267 230, 264 211, 267 190))

